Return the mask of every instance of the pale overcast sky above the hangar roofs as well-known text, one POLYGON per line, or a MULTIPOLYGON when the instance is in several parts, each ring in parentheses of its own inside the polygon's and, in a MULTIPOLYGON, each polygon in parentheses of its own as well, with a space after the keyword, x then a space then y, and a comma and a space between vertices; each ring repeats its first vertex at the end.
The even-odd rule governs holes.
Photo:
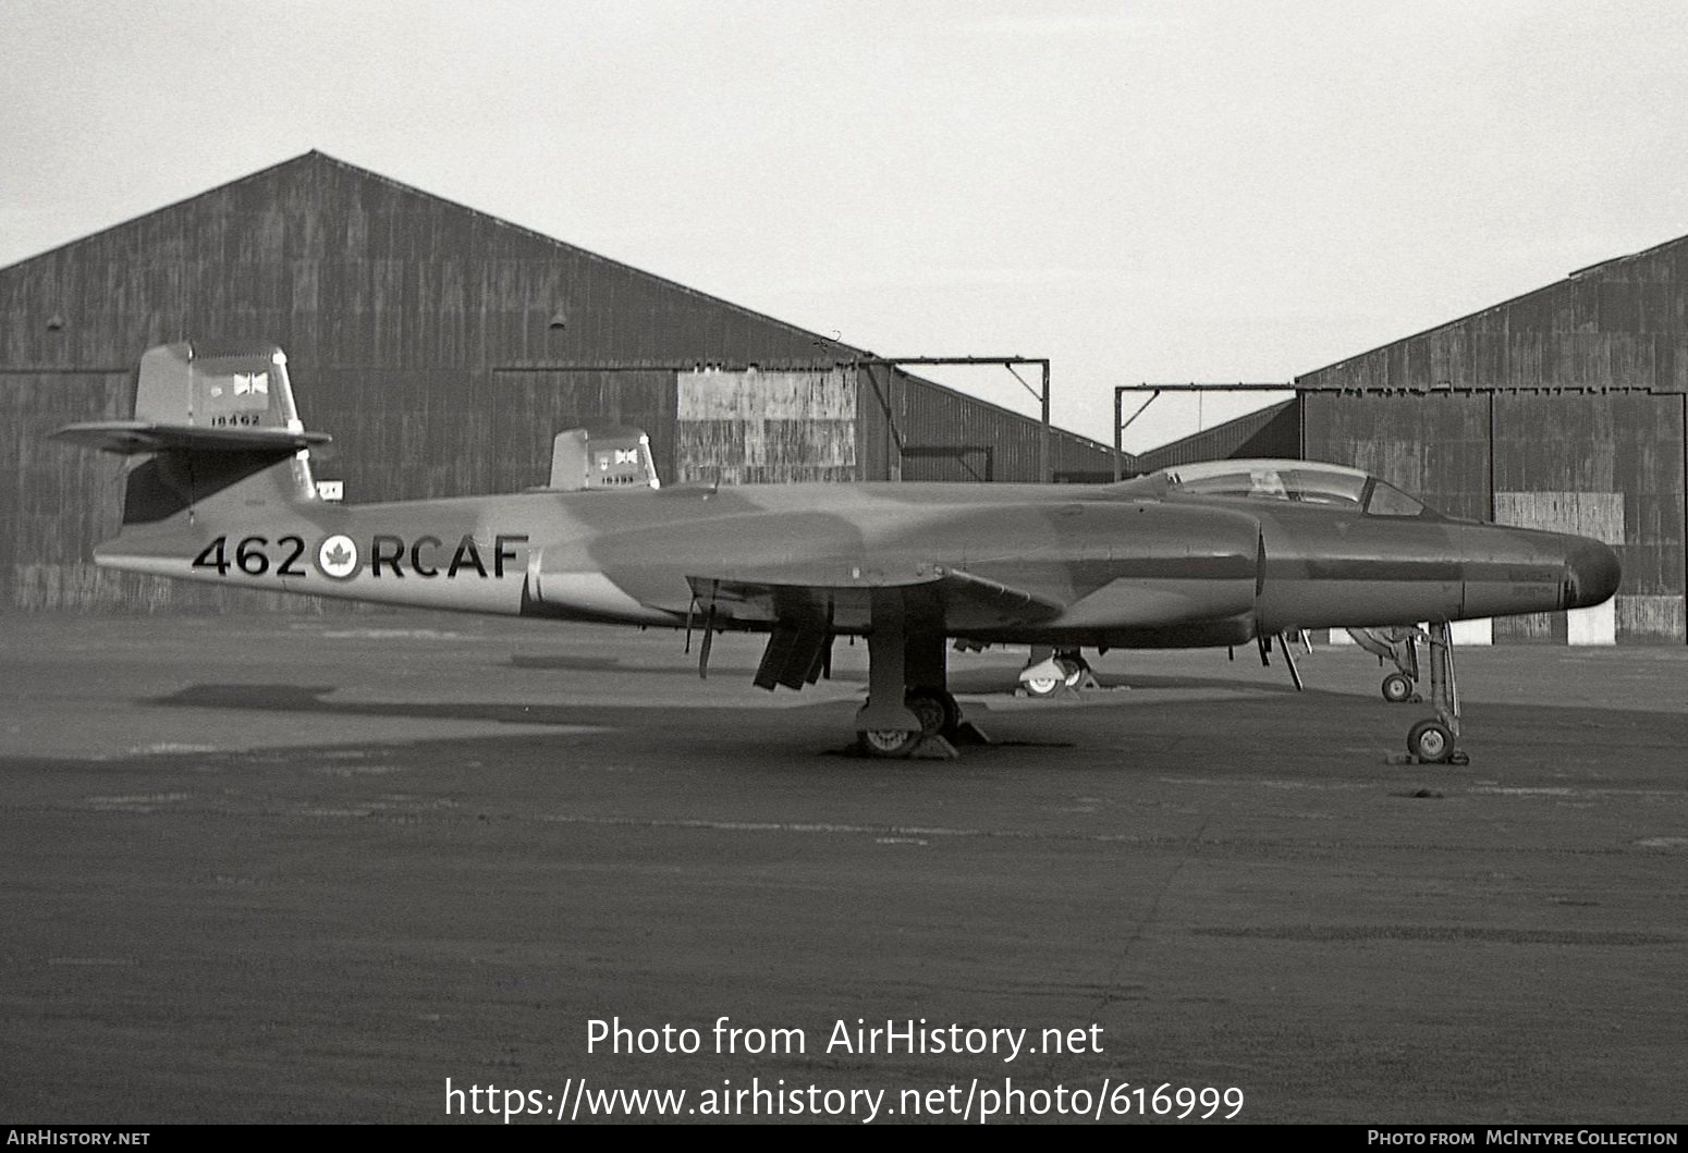
POLYGON ((1114 385, 1288 380, 1688 233, 1681 0, 0 17, 0 265, 319 149, 883 355, 1048 356, 1102 441, 1114 385))

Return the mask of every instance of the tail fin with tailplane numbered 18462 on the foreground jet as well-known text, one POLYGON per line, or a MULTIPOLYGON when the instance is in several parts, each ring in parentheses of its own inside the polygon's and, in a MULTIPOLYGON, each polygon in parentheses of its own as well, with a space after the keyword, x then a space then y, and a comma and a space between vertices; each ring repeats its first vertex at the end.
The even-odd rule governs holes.
POLYGON ((133 420, 73 424, 52 436, 122 456, 152 454, 128 473, 125 525, 192 518, 235 486, 246 503, 265 495, 314 500, 309 447, 329 439, 304 430, 282 349, 209 341, 142 355, 133 420))

